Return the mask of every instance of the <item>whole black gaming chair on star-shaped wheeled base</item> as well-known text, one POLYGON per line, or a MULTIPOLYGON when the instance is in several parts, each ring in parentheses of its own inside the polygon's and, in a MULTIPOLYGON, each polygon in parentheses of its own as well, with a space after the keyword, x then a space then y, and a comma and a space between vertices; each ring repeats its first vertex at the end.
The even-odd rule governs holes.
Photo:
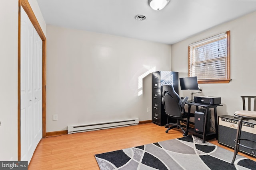
POLYGON ((177 129, 181 129, 183 132, 183 136, 186 136, 186 132, 184 131, 183 127, 186 127, 185 125, 180 125, 180 121, 183 118, 186 118, 187 115, 185 115, 184 111, 184 105, 186 101, 188 100, 188 96, 186 96, 182 103, 180 103, 180 97, 179 95, 174 91, 174 88, 172 85, 163 85, 162 86, 162 104, 164 104, 164 110, 165 113, 168 115, 168 117, 171 117, 173 119, 177 119, 177 123, 168 123, 164 127, 168 128, 165 132, 168 133, 170 129, 173 129, 177 127, 177 129))

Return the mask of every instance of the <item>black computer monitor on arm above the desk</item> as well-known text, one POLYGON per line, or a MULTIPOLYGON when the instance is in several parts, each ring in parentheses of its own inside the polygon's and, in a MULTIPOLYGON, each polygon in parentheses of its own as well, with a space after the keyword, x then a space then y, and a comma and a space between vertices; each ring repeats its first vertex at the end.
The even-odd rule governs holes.
POLYGON ((198 90, 197 77, 180 78, 180 90, 198 90))

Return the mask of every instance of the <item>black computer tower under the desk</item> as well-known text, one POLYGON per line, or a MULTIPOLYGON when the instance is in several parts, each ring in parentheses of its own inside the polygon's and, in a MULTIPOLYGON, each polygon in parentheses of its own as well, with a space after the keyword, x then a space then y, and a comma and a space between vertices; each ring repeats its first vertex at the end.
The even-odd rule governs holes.
MULTIPOLYGON (((206 109, 199 109, 199 110, 196 110, 195 111, 195 132, 196 133, 200 133, 200 134, 203 134, 204 133, 204 121, 205 120, 205 112, 206 112, 206 109)), ((207 122, 206 122, 206 129, 205 129, 205 132, 207 133, 208 131, 210 131, 210 126, 211 126, 211 121, 210 121, 210 118, 211 118, 211 112, 210 110, 208 111, 207 113, 207 122)))

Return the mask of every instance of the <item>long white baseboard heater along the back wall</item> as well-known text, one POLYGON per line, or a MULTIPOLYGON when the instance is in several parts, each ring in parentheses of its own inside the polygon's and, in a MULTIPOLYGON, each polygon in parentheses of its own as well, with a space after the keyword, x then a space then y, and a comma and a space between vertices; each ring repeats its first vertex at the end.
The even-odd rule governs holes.
POLYGON ((138 125, 138 124, 139 124, 139 119, 136 118, 136 119, 93 123, 93 124, 85 124, 85 125, 74 125, 74 126, 68 126, 68 134, 86 132, 86 131, 95 131, 100 129, 109 129, 114 127, 138 125))

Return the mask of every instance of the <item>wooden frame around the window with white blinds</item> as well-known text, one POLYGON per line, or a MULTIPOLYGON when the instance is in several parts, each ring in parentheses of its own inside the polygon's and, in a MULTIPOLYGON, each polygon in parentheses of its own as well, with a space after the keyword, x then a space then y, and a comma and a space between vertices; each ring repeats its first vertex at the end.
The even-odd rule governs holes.
MULTIPOLYGON (((198 84, 207 84, 207 83, 229 83, 230 82, 230 31, 226 31, 224 32, 227 37, 227 58, 226 58, 226 79, 204 79, 204 80, 198 80, 198 84)), ((215 37, 215 36, 213 36, 215 37)), ((213 37, 209 37, 207 39, 211 39, 213 37)), ((206 39, 205 39, 206 40, 206 39)), ((204 41, 204 40, 202 40, 204 41)), ((200 43, 200 41, 198 41, 197 43, 200 43)), ((195 44, 195 43, 193 43, 195 44)), ((203 44, 203 43, 202 43, 203 44)), ((190 46, 192 44, 188 45, 188 76, 190 77, 190 68, 191 68, 191 63, 190 63, 190 46)))

